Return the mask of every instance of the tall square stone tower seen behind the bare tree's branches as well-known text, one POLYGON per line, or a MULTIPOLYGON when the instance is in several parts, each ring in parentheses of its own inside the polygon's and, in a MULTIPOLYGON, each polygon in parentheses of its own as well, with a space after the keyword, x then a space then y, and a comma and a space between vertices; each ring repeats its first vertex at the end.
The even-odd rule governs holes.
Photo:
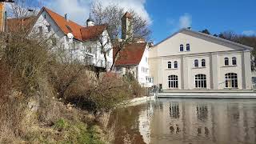
POLYGON ((122 17, 122 39, 133 37, 133 26, 131 24, 131 14, 126 12, 122 17))

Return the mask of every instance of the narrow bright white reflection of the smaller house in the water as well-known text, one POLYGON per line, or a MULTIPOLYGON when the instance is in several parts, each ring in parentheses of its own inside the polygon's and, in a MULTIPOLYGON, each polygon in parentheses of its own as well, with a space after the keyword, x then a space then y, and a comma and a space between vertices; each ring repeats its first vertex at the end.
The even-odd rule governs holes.
POLYGON ((154 102, 147 102, 146 110, 142 110, 138 118, 138 130, 142 135, 143 141, 150 143, 150 121, 154 114, 154 102))

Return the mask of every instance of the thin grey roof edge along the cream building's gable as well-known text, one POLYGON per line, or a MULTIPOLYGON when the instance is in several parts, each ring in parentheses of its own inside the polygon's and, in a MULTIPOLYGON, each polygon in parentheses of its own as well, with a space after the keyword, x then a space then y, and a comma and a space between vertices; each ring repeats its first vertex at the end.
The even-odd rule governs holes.
POLYGON ((186 33, 186 32, 188 32, 190 34, 198 34, 198 35, 202 36, 203 38, 213 39, 215 42, 218 42, 220 44, 222 44, 224 42, 226 44, 230 44, 231 46, 238 46, 238 47, 242 47, 242 48, 249 49, 249 50, 253 50, 254 49, 253 47, 250 47, 250 46, 242 45, 240 43, 232 42, 232 41, 226 40, 224 38, 218 38, 218 37, 215 37, 215 36, 210 35, 210 34, 204 34, 204 33, 201 33, 201 32, 198 32, 198 31, 193 31, 193 30, 186 29, 186 28, 178 30, 178 32, 176 32, 174 34, 171 34, 168 38, 162 40, 161 42, 158 42, 158 44, 156 44, 155 46, 158 46, 162 42, 165 42, 167 39, 174 37, 174 35, 176 35, 176 34, 186 33))

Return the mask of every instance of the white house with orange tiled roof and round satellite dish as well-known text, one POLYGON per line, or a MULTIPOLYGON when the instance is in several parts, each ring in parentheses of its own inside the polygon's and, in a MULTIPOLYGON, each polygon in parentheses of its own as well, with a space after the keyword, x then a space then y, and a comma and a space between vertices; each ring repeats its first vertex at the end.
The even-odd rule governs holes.
POLYGON ((52 45, 68 51, 73 58, 84 61, 87 65, 105 67, 105 58, 101 50, 102 41, 106 54, 106 66, 113 63, 113 50, 109 42, 106 25, 94 26, 89 18, 85 26, 71 21, 67 14, 63 16, 43 7, 38 14, 33 29, 37 33, 52 38, 52 45))

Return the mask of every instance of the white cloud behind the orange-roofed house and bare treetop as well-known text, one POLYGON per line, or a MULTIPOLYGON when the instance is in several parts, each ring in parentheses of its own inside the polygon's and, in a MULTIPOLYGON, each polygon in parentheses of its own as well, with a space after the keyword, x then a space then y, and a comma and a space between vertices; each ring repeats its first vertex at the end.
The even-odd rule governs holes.
POLYGON ((102 6, 110 4, 117 4, 122 6, 125 10, 134 10, 151 22, 150 15, 147 13, 145 4, 146 0, 47 0, 44 5, 56 11, 58 14, 69 14, 69 18, 84 25, 86 19, 89 18, 90 6, 93 2, 102 2, 102 6))

